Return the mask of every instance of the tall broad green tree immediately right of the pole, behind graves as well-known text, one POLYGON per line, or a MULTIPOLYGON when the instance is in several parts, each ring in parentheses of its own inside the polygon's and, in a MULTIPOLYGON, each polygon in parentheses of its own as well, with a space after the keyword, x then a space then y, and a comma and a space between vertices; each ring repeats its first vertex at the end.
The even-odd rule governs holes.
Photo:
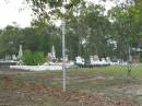
POLYGON ((104 15, 104 7, 93 3, 80 3, 72 9, 67 22, 67 47, 69 56, 82 56, 88 59, 91 55, 99 54, 105 57, 107 52, 106 35, 109 21, 104 15))

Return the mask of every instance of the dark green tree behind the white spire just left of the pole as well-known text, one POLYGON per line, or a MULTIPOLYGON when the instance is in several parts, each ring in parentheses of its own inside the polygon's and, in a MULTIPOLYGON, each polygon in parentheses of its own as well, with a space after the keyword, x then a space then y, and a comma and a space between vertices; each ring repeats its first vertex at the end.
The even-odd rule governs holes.
POLYGON ((51 51, 51 47, 55 46, 56 55, 58 58, 61 57, 61 33, 60 31, 48 25, 43 27, 39 33, 39 45, 38 49, 44 51, 46 55, 51 51))

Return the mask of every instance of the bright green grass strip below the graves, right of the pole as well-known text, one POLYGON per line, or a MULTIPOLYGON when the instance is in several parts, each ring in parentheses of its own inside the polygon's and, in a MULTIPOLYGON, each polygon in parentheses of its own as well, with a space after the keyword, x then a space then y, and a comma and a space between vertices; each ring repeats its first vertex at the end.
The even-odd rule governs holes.
MULTIPOLYGON (((102 74, 102 75, 113 75, 113 76, 128 76, 128 66, 108 66, 108 67, 97 67, 97 68, 78 68, 70 69, 68 71, 69 74, 72 73, 90 73, 90 74, 102 74)), ((142 66, 131 66, 131 75, 135 79, 142 78, 142 66)))

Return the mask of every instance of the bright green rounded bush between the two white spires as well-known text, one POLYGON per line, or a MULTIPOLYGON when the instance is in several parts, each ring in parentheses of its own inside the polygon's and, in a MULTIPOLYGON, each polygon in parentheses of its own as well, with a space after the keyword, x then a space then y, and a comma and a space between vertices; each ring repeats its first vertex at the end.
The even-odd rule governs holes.
POLYGON ((22 57, 22 61, 27 66, 37 66, 44 63, 46 60, 44 52, 25 50, 22 57))

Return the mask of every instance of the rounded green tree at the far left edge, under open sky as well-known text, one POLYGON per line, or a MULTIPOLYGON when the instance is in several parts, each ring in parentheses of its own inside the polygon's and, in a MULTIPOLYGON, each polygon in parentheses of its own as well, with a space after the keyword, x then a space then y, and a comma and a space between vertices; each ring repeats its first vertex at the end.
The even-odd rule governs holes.
POLYGON ((14 26, 7 26, 0 35, 0 54, 12 55, 17 54, 23 34, 22 30, 14 26))

